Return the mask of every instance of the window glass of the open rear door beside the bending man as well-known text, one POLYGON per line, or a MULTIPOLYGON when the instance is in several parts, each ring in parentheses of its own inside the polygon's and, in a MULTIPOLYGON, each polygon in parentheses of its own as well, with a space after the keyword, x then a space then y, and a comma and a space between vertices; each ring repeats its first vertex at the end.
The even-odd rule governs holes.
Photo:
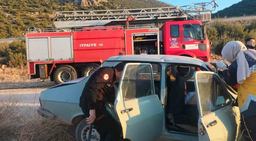
POLYGON ((154 94, 150 65, 127 65, 121 90, 124 101, 154 94))

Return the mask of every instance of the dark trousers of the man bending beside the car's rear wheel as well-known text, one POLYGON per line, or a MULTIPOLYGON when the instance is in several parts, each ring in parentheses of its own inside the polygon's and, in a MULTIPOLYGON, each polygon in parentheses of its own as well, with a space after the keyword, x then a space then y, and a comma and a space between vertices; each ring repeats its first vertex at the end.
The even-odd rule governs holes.
MULTIPOLYGON (((83 110, 83 113, 86 113, 83 110)), ((100 134, 100 141, 118 141, 122 128, 107 110, 96 109, 96 119, 93 123, 100 134)), ((89 117, 89 116, 88 116, 89 117)))

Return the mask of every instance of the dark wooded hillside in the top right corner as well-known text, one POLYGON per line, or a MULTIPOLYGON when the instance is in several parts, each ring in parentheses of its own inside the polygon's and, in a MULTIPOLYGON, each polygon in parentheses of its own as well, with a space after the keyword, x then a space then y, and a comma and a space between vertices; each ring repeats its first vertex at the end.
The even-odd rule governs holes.
POLYGON ((242 0, 237 4, 233 4, 217 13, 212 14, 212 18, 224 18, 244 15, 255 15, 256 14, 256 0, 242 0))

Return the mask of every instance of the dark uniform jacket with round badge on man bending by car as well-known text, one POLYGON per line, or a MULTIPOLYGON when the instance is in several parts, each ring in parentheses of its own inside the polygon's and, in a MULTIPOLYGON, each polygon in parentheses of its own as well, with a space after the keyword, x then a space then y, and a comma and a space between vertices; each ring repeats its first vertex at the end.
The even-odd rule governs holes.
POLYGON ((80 96, 79 106, 83 109, 104 110, 104 104, 115 101, 113 83, 116 79, 114 67, 101 67, 91 74, 80 96))

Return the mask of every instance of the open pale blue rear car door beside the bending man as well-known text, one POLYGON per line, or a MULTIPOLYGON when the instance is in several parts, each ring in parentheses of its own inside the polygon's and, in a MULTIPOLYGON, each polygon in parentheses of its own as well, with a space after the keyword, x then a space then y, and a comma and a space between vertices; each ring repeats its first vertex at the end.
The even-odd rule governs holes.
POLYGON ((161 136, 164 110, 155 94, 150 63, 127 63, 120 80, 115 112, 124 139, 154 141, 161 136))

